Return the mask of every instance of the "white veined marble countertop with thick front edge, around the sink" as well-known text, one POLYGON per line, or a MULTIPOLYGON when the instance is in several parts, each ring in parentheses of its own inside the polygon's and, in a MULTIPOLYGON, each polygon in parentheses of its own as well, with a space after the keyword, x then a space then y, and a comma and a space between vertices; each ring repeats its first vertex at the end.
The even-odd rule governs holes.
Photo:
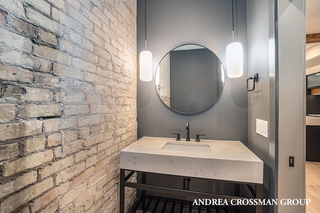
POLYGON ((120 169, 244 183, 263 181, 263 162, 240 141, 143 137, 120 151, 120 169), (211 152, 163 150, 166 142, 208 144, 211 152))

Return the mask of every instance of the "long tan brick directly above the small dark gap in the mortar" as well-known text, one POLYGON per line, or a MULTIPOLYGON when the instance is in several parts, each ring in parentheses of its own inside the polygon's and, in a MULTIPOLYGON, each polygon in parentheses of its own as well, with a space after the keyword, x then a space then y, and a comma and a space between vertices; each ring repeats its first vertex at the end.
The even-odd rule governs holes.
POLYGON ((28 105, 19 106, 18 114, 20 118, 60 116, 61 106, 57 104, 50 104, 50 105, 28 104, 28 105))

